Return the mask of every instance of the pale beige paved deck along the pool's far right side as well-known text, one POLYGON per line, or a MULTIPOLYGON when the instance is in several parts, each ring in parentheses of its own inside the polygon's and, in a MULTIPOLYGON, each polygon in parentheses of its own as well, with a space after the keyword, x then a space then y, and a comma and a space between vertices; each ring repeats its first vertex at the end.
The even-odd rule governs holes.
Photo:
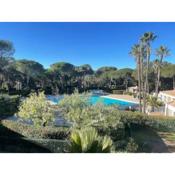
POLYGON ((139 103, 138 99, 136 99, 136 98, 134 98, 133 96, 130 96, 130 95, 110 94, 110 95, 105 95, 103 97, 116 99, 116 100, 121 100, 121 101, 126 101, 126 102, 130 102, 130 103, 136 103, 136 104, 139 103))

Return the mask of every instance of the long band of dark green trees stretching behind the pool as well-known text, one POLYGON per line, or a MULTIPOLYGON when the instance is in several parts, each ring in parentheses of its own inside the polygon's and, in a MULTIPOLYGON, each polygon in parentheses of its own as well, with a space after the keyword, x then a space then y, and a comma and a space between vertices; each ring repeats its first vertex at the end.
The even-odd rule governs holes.
MULTIPOLYGON (((46 94, 62 94, 72 93, 75 89, 80 92, 90 89, 112 92, 126 90, 129 86, 137 84, 139 87, 142 84, 142 88, 144 87, 148 93, 157 89, 157 84, 160 82, 162 89, 173 88, 175 65, 163 62, 165 56, 162 58, 161 55, 160 61, 151 62, 151 45, 147 40, 132 48, 132 55, 137 60, 136 69, 106 66, 93 70, 88 64, 75 66, 66 62, 57 62, 45 69, 43 65, 33 60, 16 60, 13 57, 14 52, 15 48, 11 41, 0 40, 1 93, 28 95, 31 91, 42 90, 46 94)), ((158 87, 160 89, 160 86, 158 87)))

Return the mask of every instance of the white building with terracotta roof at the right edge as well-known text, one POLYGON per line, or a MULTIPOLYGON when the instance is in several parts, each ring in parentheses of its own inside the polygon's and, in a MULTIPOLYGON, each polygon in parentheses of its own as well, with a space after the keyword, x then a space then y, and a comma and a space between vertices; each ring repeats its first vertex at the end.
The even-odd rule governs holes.
POLYGON ((175 116, 175 90, 159 92, 159 99, 165 103, 165 115, 175 116))

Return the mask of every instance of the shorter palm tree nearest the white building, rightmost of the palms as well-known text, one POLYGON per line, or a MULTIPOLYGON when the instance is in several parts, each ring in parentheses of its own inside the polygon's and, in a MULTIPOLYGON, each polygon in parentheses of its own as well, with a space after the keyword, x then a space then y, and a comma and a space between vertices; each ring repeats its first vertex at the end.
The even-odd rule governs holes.
POLYGON ((155 63, 157 64, 157 81, 156 81, 156 87, 155 87, 155 93, 156 97, 158 97, 159 93, 159 86, 160 86, 160 70, 162 66, 163 59, 170 55, 170 51, 165 46, 160 46, 158 49, 156 49, 156 55, 159 57, 159 60, 157 60, 155 63))

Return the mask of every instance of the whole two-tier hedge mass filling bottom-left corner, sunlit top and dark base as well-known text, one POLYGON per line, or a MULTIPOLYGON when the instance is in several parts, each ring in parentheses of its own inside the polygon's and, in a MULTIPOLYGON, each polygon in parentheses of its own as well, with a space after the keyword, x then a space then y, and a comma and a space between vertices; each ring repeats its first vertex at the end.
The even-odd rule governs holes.
POLYGON ((26 125, 17 121, 0 123, 0 152, 40 153, 65 152, 68 149, 69 128, 26 125))

